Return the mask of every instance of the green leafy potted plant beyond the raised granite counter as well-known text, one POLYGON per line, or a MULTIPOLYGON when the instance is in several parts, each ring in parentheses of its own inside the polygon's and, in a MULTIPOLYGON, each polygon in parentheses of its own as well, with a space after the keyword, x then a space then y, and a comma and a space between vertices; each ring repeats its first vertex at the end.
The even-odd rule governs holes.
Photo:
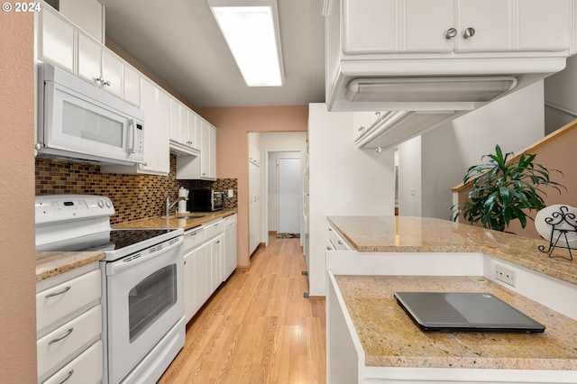
MULTIPOLYGON (((472 181, 472 190, 463 206, 453 206, 453 220, 459 215, 471 224, 481 222, 483 227, 505 231, 512 220, 518 220, 523 228, 527 225, 528 212, 545 208, 541 187, 554 187, 561 193, 561 184, 549 178, 550 171, 534 162, 536 155, 523 152, 518 160, 510 161, 508 152, 503 156, 499 145, 494 154, 481 160, 488 162, 467 169, 463 183, 472 181)), ((560 170, 552 169, 555 172, 560 170)))

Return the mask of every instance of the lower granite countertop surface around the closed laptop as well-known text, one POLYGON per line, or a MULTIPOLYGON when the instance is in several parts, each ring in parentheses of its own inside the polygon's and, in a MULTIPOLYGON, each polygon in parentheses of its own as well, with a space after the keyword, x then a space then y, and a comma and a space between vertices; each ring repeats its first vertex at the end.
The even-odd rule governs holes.
POLYGON ((335 279, 367 366, 577 370, 577 321, 487 279, 339 275, 335 279), (424 332, 392 296, 403 290, 488 292, 545 325, 545 333, 424 332))

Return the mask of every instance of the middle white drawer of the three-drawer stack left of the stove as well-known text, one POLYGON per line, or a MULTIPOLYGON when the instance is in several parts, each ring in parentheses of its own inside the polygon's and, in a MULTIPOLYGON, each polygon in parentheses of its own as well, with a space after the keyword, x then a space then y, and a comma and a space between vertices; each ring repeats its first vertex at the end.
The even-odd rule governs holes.
POLYGON ((102 306, 97 305, 39 339, 36 342, 39 381, 100 339, 101 333, 102 306))

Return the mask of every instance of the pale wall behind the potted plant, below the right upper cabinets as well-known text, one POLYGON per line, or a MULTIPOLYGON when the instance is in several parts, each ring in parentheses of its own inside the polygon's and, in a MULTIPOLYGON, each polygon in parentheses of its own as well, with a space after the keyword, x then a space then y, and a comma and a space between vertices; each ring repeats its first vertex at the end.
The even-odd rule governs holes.
POLYGON ((421 136, 424 217, 450 219, 451 188, 496 144, 517 152, 545 136, 543 87, 539 81, 421 136))

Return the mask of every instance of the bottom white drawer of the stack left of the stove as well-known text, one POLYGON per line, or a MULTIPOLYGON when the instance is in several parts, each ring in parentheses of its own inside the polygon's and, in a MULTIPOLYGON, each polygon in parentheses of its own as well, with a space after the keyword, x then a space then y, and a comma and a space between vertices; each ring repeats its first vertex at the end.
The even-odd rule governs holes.
POLYGON ((76 359, 70 361, 61 370, 50 376, 44 384, 91 384, 102 380, 103 359, 102 341, 90 345, 76 359))

